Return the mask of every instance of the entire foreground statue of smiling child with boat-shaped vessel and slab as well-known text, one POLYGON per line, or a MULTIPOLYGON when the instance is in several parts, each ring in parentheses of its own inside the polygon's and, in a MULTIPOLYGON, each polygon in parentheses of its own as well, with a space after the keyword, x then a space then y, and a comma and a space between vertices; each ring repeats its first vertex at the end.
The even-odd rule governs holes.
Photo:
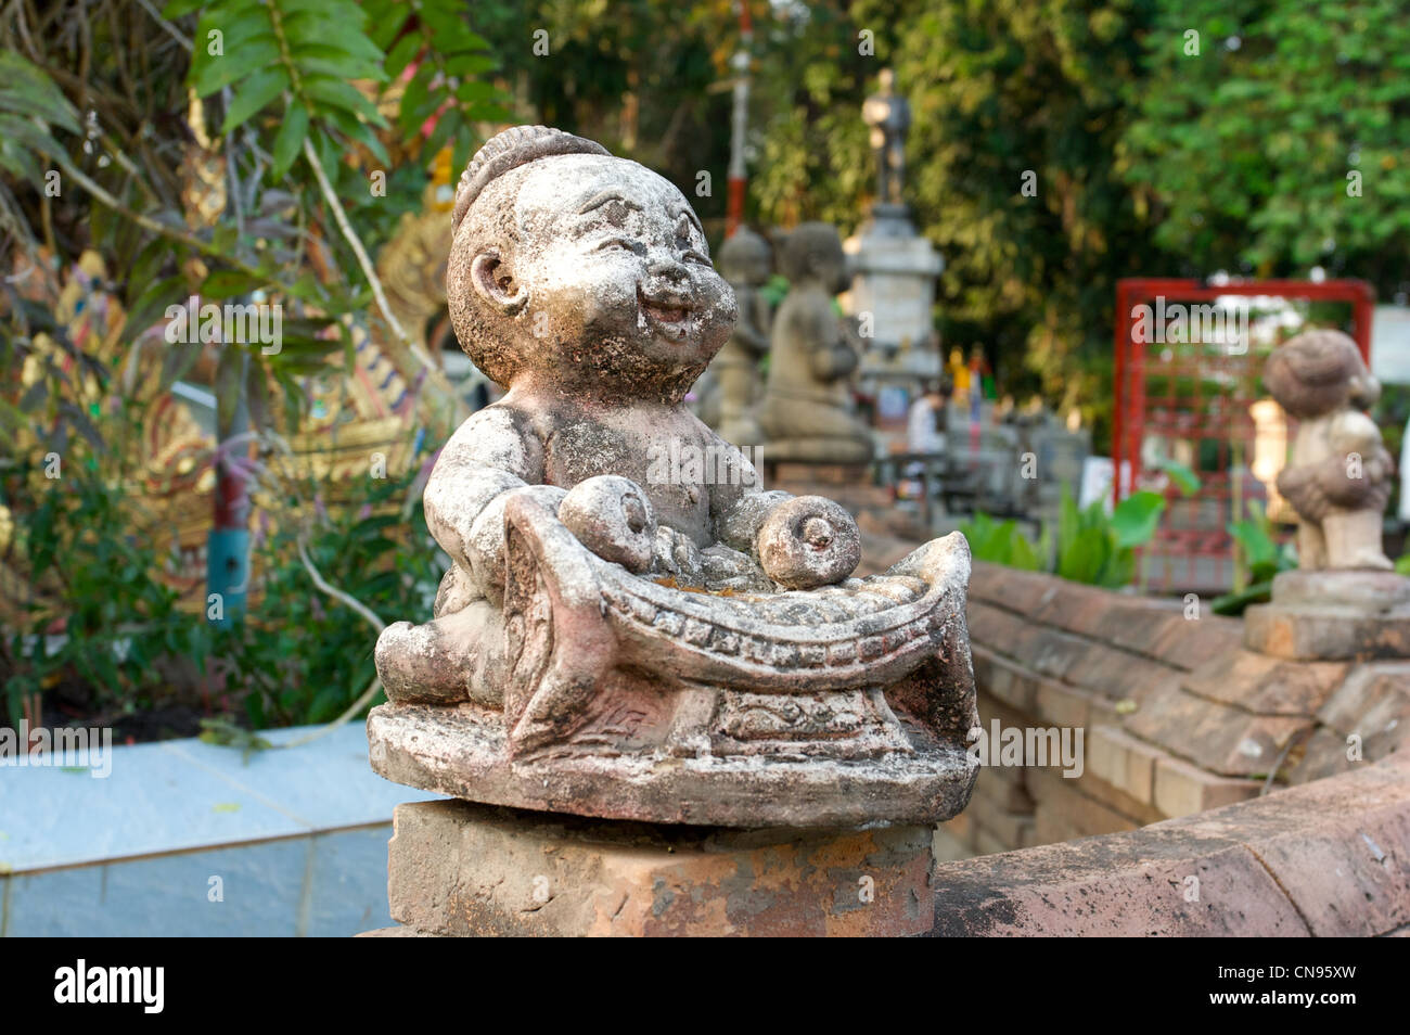
MULTIPOLYGON (((471 159, 453 227, 451 320, 508 393, 427 482, 453 564, 434 619, 378 640, 391 704, 368 719, 374 768, 656 822, 963 808, 977 771, 964 540, 849 578, 852 518, 761 492, 685 409, 736 302, 680 190, 592 141, 516 127, 471 159)), ((836 279, 832 250, 815 276, 836 279)))

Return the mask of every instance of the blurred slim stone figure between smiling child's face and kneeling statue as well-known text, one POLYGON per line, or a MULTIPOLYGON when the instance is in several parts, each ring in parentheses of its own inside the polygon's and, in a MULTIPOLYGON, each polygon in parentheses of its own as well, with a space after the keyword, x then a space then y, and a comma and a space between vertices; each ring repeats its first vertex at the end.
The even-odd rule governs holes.
POLYGON ((759 358, 768 351, 768 299, 760 290, 768 281, 773 255, 768 241, 747 227, 740 227, 719 248, 719 272, 735 289, 739 321, 729 341, 711 362, 718 384, 719 422, 726 441, 757 446, 759 424, 753 408, 763 389, 759 358))

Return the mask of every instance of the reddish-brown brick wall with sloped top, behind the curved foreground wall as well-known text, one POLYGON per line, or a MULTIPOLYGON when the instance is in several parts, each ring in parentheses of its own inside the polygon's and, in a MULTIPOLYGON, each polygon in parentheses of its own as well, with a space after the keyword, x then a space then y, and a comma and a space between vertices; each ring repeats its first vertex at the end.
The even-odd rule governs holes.
POLYGON ((1134 831, 1365 766, 1410 736, 1410 663, 1304 663, 1242 622, 976 563, 981 725, 1080 728, 1080 776, 986 766, 942 859, 1134 831), (1363 760, 1348 760, 1348 735, 1363 760))

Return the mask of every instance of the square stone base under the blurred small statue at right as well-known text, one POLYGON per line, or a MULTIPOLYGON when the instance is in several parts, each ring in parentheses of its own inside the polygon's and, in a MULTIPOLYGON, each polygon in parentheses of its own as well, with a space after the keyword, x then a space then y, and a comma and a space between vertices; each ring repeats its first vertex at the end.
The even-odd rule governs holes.
POLYGON ((1299 661, 1410 657, 1410 578, 1379 570, 1285 571, 1244 615, 1244 646, 1299 661))

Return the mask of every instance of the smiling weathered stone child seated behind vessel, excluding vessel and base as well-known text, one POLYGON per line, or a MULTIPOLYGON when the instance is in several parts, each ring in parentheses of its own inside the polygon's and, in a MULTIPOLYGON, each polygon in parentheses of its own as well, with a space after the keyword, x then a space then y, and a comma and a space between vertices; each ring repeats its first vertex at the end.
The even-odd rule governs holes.
POLYGON ((852 574, 856 525, 826 501, 847 549, 790 547, 774 565, 760 527, 809 498, 761 494, 739 450, 684 406, 736 303, 680 190, 592 141, 515 127, 471 159, 453 228, 451 321, 508 393, 461 424, 426 485, 426 523, 453 565, 434 620, 378 639, 392 701, 502 704, 505 508, 522 494, 599 557, 680 585, 852 574), (651 477, 681 453, 715 463, 704 477, 651 477))

